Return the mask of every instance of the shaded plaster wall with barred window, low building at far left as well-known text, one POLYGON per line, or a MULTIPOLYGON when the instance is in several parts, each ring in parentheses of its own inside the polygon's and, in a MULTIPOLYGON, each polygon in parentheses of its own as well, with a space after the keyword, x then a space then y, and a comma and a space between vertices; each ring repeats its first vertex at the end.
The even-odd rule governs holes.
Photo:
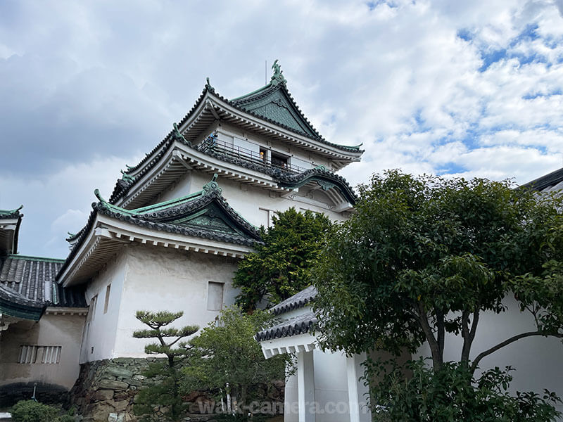
POLYGON ((11 324, 0 339, 0 385, 37 382, 70 390, 80 371, 78 357, 83 326, 84 316, 68 314, 44 314, 37 322, 11 324), (22 345, 61 346, 60 362, 18 364, 22 345))

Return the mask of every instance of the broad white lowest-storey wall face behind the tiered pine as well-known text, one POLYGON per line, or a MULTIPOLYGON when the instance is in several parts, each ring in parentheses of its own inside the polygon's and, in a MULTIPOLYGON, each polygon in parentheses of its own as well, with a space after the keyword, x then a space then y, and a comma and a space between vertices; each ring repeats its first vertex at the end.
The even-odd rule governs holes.
POLYGON ((144 357, 144 345, 152 343, 132 336, 133 331, 146 328, 135 318, 138 310, 184 311, 174 326, 203 328, 219 314, 207 309, 209 281, 224 283, 224 306, 234 303, 236 261, 231 258, 137 244, 126 251, 127 274, 118 323, 113 326, 117 331, 113 357, 144 357))

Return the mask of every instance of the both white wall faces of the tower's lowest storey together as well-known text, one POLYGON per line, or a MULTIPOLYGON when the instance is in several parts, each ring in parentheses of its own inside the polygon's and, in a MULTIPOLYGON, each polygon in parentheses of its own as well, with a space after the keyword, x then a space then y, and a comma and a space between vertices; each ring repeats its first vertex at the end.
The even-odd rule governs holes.
POLYGON ((236 261, 227 257, 137 243, 124 245, 120 255, 89 284, 89 300, 96 294, 98 300, 96 311, 90 311, 93 316, 89 316, 84 336, 82 362, 146 356, 144 345, 152 341, 133 338, 133 331, 146 328, 135 318, 138 310, 183 311, 174 326, 203 328, 219 314, 215 304, 215 310, 208 310, 208 283, 222 283, 223 306, 232 305, 235 269, 236 261), (104 314, 108 283, 110 300, 104 314))

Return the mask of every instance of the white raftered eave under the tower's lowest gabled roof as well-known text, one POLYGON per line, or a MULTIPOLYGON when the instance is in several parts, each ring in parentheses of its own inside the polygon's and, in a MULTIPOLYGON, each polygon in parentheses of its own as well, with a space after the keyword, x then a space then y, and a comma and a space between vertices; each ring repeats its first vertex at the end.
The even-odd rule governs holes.
POLYGON ((124 244, 128 243, 141 243, 234 258, 242 258, 252 250, 244 245, 146 229, 98 214, 87 238, 80 246, 80 250, 72 258, 72 262, 68 264, 63 274, 60 274, 59 281, 63 283, 63 287, 84 283, 102 269, 108 260, 117 255, 124 244))

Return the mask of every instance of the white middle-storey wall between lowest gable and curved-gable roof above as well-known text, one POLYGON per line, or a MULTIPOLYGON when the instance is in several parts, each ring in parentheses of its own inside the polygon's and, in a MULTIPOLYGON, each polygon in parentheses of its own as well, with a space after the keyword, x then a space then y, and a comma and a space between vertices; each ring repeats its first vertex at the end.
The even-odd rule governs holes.
MULTIPOLYGON (((158 198, 158 202, 180 198, 190 193, 201 191, 203 185, 210 180, 209 174, 191 172, 175 186, 165 191, 158 198)), ((248 186, 230 179, 219 177, 217 182, 220 188, 222 188, 222 195, 229 205, 254 226, 267 225, 267 210, 281 212, 288 210, 290 207, 296 207, 296 210, 322 212, 333 221, 343 221, 345 219, 341 213, 328 209, 327 203, 329 203, 329 200, 320 189, 312 193, 313 199, 318 199, 318 205, 314 205, 301 202, 299 195, 294 199, 281 198, 279 194, 270 193, 270 191, 264 188, 248 186)))

